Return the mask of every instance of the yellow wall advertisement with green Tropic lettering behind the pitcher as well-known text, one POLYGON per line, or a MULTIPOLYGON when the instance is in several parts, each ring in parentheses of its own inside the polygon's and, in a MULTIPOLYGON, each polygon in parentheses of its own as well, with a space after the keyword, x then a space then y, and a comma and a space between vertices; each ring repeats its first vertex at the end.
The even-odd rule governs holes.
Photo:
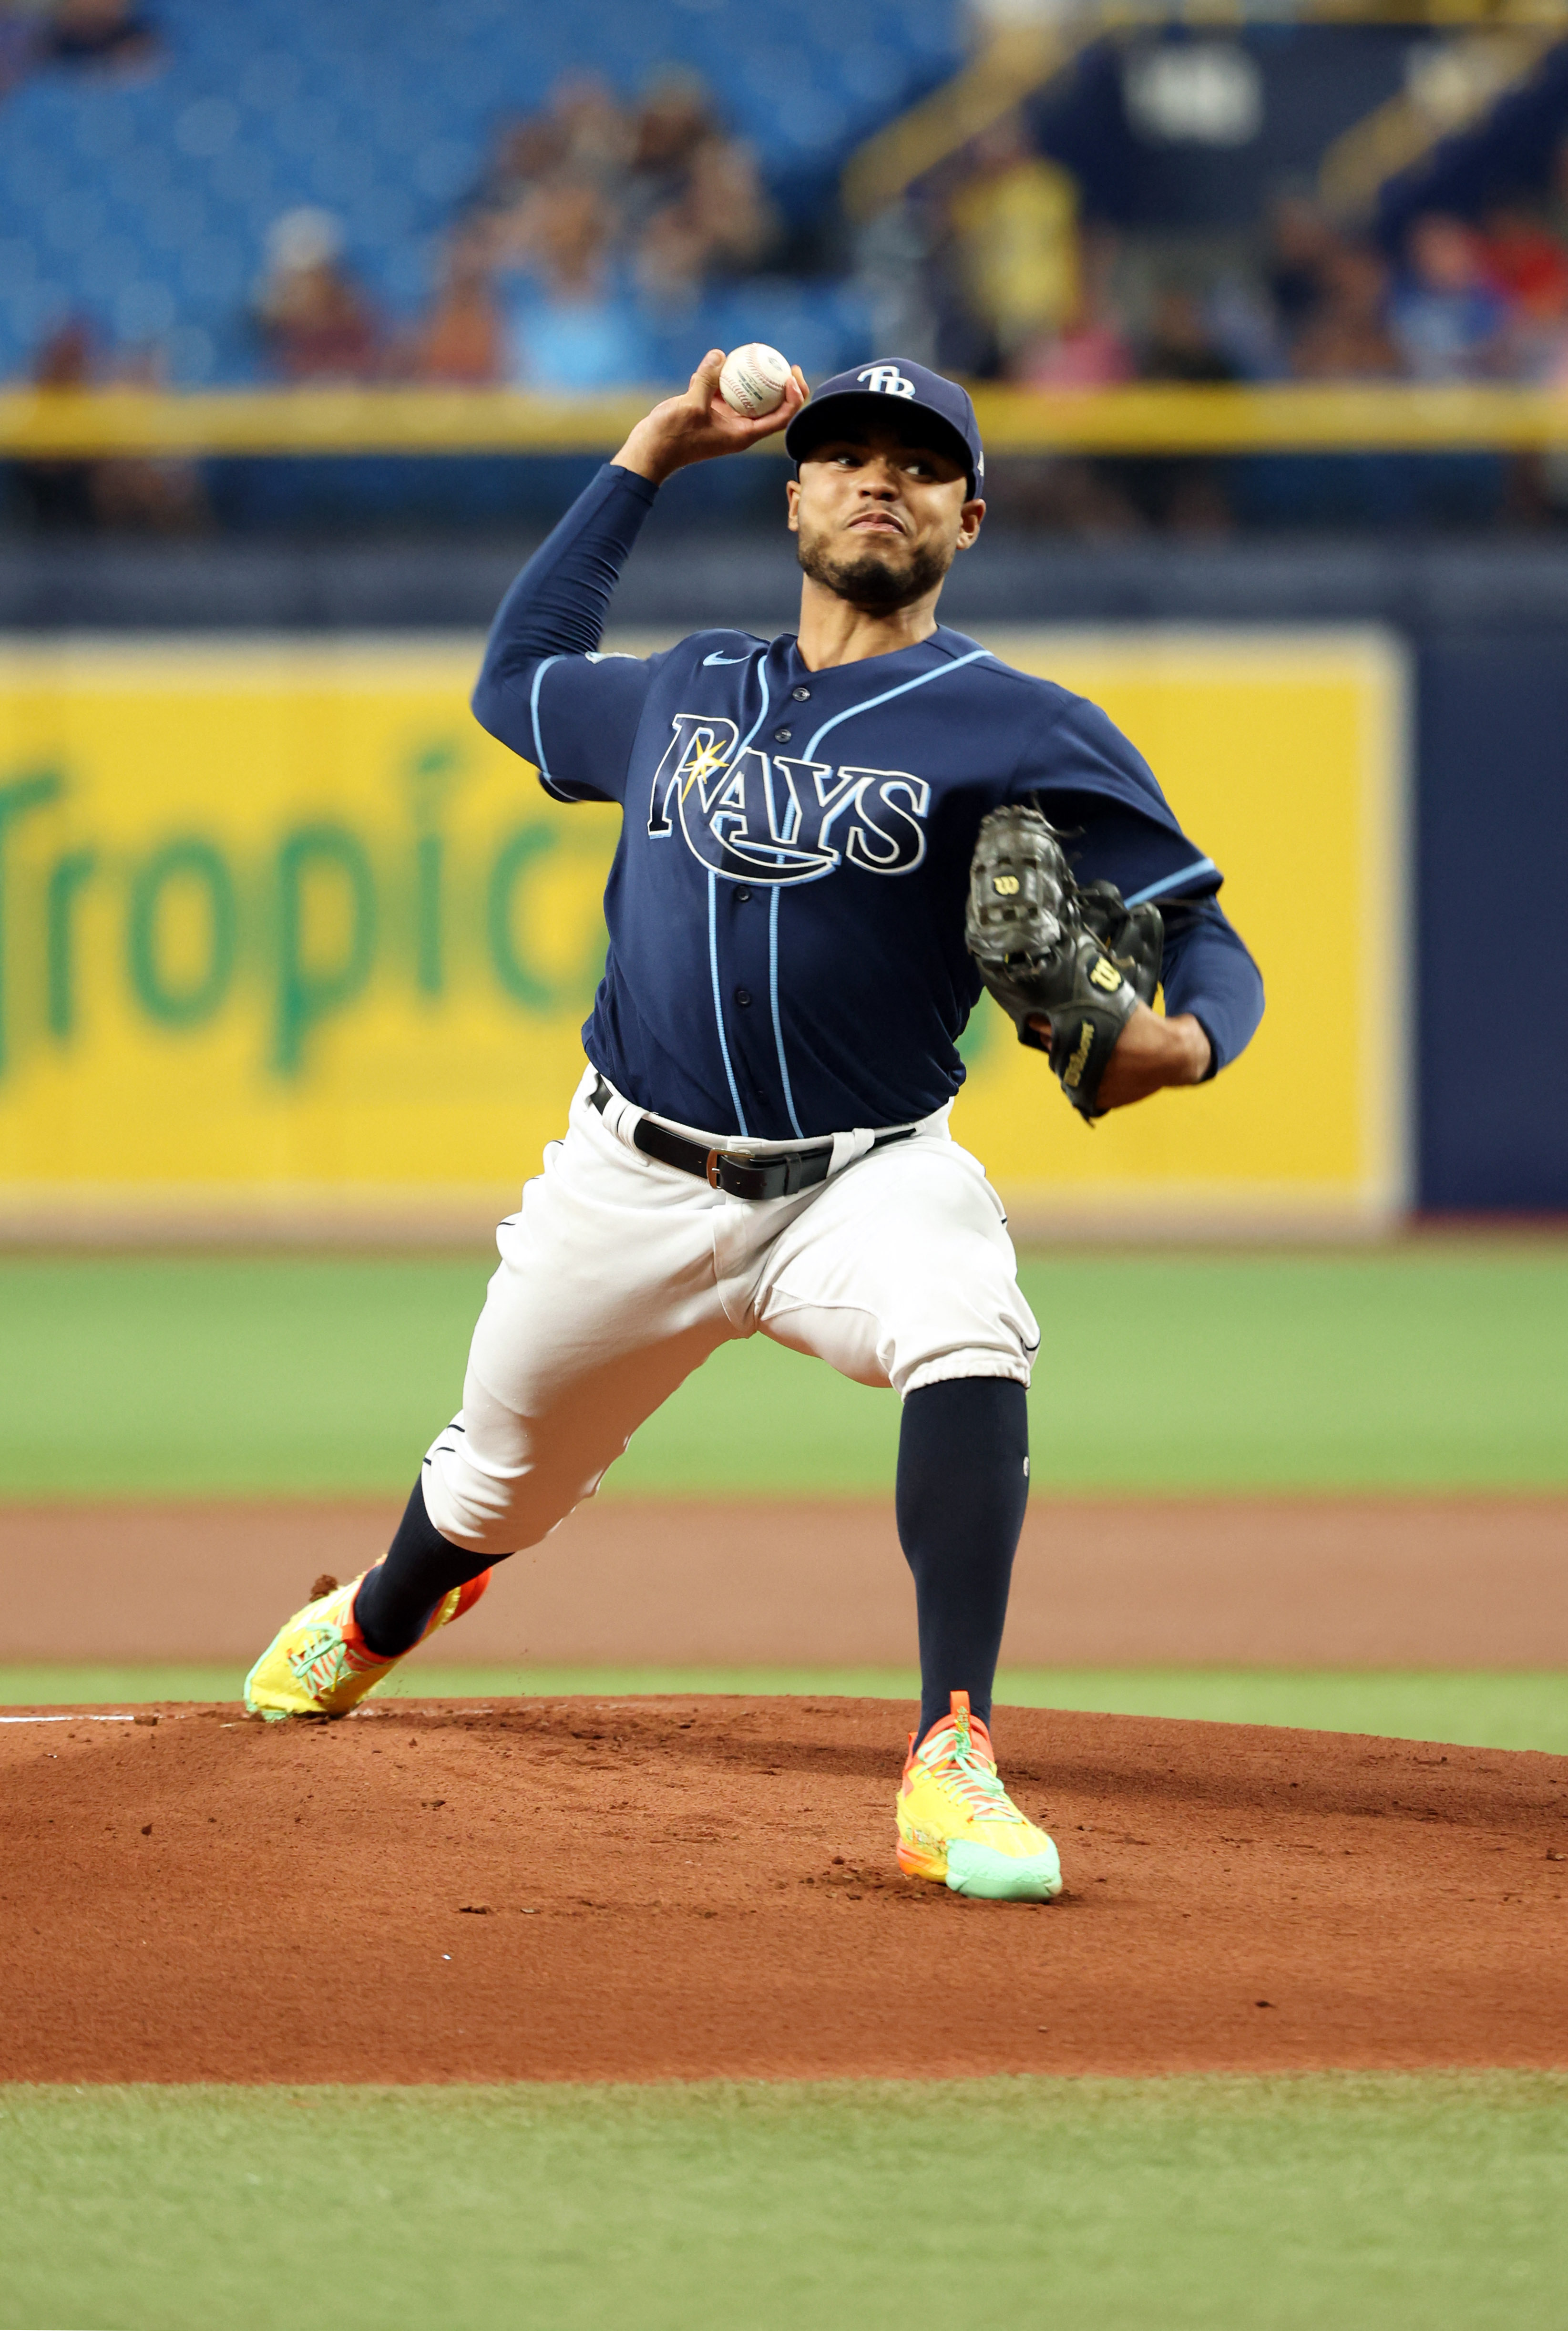
MULTIPOLYGON (((983 636, 1144 748, 1270 991, 1214 1089, 1093 1138, 983 1002, 955 1131, 1016 1224, 1398 1217, 1400 646, 983 636)), ((561 809, 478 730, 475 662, 387 636, 5 653, 0 1226, 408 1235, 515 1203, 580 1070, 617 814, 561 809)))

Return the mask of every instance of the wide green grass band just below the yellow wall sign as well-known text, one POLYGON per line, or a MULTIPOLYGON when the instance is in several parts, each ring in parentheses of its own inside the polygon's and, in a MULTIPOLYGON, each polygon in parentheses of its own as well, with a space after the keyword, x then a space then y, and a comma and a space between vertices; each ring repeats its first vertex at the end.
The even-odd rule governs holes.
MULTIPOLYGON (((401 1494, 457 1406, 485 1277, 2 1259, 0 1497, 401 1494)), ((1023 1282, 1046 1492, 1568 1487, 1568 1242, 1055 1254, 1023 1282)), ((638 1431, 610 1492, 881 1492, 895 1441, 890 1394, 753 1338, 638 1431)))

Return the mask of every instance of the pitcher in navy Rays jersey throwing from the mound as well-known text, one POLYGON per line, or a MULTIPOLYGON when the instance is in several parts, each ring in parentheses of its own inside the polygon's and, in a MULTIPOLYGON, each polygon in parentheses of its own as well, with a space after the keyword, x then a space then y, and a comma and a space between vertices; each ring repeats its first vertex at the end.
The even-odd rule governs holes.
POLYGON ((746 417, 722 361, 636 424, 496 615, 475 716, 557 802, 622 811, 589 1065, 501 1224, 464 1403, 389 1552, 322 1580, 245 1699, 347 1713, 592 1497, 720 1343, 762 1333, 902 1401, 923 1697, 899 1865, 1051 1900, 1055 1846, 988 1730, 1039 1329, 1002 1203, 948 1131, 958 1037, 990 988, 1093 1124, 1235 1061, 1263 986, 1219 867, 1128 739, 937 620, 986 517, 965 389, 888 359, 811 401, 794 373, 746 417), (799 632, 601 655, 664 480, 774 429, 799 632))

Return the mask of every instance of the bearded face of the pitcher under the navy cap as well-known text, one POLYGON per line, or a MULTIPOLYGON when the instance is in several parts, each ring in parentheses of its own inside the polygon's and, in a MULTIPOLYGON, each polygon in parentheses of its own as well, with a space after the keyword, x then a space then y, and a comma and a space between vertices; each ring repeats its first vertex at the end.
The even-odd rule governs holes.
POLYGON ((813 583, 867 608, 923 599, 981 531, 965 464, 916 429, 822 438, 790 480, 790 531, 813 583))

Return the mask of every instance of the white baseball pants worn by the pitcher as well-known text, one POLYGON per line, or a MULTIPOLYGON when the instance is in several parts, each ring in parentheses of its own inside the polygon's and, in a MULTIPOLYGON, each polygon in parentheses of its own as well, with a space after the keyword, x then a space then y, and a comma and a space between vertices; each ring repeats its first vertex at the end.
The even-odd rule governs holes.
MULTIPOLYGON (((496 1233, 501 1268, 473 1331, 464 1406, 424 1462, 424 1503, 454 1545, 536 1545, 592 1497, 631 1434, 736 1336, 771 1336, 857 1385, 904 1396, 953 1375, 1027 1385, 1039 1329, 1002 1200, 948 1133, 834 1135, 827 1182, 729 1198, 631 1147, 641 1112, 589 1105, 496 1233)), ((704 1147, 778 1156, 792 1142, 704 1147)))

